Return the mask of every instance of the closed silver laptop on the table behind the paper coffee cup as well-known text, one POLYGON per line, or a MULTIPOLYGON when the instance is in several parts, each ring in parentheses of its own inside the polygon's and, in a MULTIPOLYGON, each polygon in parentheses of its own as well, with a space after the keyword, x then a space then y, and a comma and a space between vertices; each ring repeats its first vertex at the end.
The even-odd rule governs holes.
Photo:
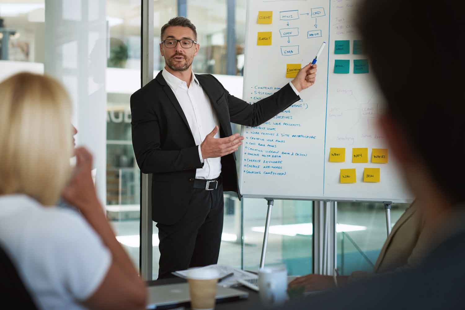
MULTIPOLYGON (((189 297, 189 284, 166 284, 148 286, 147 290, 147 309, 171 309, 179 306, 188 306, 191 298, 189 297)), ((249 293, 218 286, 216 291, 216 301, 226 302, 235 299, 249 297, 249 293)))

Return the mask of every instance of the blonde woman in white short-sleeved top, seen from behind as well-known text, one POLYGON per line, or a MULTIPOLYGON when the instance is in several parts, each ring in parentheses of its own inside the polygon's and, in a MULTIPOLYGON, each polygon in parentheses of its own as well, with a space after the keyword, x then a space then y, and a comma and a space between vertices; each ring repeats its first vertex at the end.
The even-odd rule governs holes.
POLYGON ((0 243, 40 309, 144 309, 145 285, 73 152, 64 88, 19 73, 0 83, 0 243), (80 214, 53 206, 62 196, 80 214))

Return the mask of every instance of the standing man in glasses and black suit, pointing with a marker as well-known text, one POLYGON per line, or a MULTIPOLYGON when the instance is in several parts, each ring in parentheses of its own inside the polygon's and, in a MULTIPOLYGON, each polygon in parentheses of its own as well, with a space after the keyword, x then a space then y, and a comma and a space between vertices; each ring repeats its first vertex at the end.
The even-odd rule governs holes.
POLYGON ((231 122, 258 126, 298 101, 315 82, 316 65, 253 105, 210 74, 193 74, 199 51, 190 20, 161 28, 166 66, 131 96, 133 147, 140 171, 153 173, 152 214, 159 230, 159 278, 218 262, 223 191, 239 193, 237 151, 243 137, 231 122))

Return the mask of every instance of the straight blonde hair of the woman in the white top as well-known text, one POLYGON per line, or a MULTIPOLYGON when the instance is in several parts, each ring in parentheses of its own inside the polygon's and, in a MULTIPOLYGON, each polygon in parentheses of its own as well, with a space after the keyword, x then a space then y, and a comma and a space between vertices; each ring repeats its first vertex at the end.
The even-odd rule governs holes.
POLYGON ((18 73, 0 83, 0 195, 56 204, 70 177, 71 102, 47 76, 18 73))

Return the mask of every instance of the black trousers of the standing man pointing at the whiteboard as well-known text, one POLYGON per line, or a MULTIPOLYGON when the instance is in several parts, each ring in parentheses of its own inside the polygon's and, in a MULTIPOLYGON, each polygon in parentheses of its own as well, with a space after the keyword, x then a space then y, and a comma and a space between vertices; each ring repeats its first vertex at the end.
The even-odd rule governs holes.
POLYGON ((218 263, 223 213, 223 184, 220 183, 214 191, 194 188, 187 212, 178 223, 157 224, 159 279, 175 277, 172 271, 218 263))

